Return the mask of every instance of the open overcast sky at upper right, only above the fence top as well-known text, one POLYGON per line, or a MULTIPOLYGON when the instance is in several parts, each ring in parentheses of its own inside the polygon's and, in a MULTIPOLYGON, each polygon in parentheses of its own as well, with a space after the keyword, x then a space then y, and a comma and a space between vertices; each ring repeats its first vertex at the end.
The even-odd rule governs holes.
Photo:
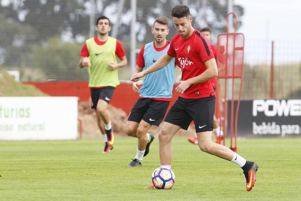
POLYGON ((301 38, 300 0, 234 0, 244 7, 243 26, 238 30, 246 38, 271 40, 301 38))

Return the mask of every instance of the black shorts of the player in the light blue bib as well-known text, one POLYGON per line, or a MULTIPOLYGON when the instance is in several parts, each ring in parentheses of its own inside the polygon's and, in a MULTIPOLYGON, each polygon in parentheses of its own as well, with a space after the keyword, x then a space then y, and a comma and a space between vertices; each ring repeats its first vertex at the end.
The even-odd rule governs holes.
POLYGON ((128 121, 140 123, 141 119, 147 123, 159 126, 162 122, 169 101, 139 98, 129 115, 128 121))

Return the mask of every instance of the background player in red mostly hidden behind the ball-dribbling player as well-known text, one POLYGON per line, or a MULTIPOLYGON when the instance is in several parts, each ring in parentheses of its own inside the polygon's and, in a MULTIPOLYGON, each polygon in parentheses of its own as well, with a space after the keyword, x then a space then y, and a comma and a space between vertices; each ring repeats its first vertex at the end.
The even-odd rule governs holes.
MULTIPOLYGON (((209 40, 211 41, 211 30, 209 28, 203 28, 200 30, 200 32, 209 40)), ((213 51, 213 55, 216 58, 216 52, 217 52, 217 47, 215 45, 212 45, 212 51, 213 51)), ((216 91, 216 87, 218 85, 216 77, 212 78, 210 80, 211 85, 213 87, 213 90, 216 91)), ((219 101, 219 100, 218 100, 219 101)), ((216 133, 216 143, 220 143, 221 139, 224 135, 223 131, 221 130, 221 128, 219 127, 219 123, 217 122, 217 118, 216 115, 213 116, 213 130, 216 133)), ((197 144, 197 135, 195 135, 194 137, 189 137, 188 141, 194 144, 197 144)))

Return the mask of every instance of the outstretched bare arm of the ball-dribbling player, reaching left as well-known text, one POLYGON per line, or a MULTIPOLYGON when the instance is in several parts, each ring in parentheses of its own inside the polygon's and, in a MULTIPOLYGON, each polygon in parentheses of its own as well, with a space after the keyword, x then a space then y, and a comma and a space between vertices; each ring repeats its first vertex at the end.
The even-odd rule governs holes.
POLYGON ((133 74, 131 80, 133 82, 137 82, 141 77, 144 77, 147 74, 153 73, 155 71, 159 71, 160 69, 164 68, 167 64, 172 61, 173 57, 170 57, 167 53, 160 57, 153 65, 151 65, 146 70, 133 74))

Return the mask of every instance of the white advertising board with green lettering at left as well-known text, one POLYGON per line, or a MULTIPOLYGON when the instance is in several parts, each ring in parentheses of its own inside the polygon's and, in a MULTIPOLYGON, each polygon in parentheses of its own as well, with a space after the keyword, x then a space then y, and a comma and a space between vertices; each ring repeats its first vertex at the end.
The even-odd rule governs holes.
POLYGON ((74 140, 77 97, 0 97, 0 140, 74 140))

